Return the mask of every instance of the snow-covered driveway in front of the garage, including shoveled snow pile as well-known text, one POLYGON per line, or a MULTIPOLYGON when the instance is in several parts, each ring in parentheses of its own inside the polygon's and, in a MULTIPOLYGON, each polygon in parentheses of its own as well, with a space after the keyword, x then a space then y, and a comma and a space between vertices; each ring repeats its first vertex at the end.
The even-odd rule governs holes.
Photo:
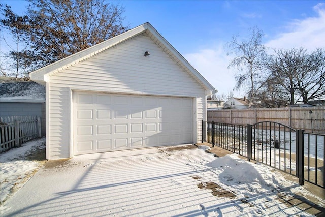
MULTIPOLYGON (((308 194, 267 166, 195 146, 158 147, 48 162, 2 216, 309 216, 279 198, 308 194)), ((323 200, 320 199, 323 203, 323 200)))

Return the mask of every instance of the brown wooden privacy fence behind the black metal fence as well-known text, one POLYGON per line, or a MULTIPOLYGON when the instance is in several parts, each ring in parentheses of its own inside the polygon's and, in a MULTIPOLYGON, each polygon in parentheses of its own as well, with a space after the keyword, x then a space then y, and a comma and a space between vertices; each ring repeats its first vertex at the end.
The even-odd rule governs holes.
POLYGON ((308 133, 325 134, 325 107, 224 109, 207 112, 208 121, 253 125, 273 121, 308 133))

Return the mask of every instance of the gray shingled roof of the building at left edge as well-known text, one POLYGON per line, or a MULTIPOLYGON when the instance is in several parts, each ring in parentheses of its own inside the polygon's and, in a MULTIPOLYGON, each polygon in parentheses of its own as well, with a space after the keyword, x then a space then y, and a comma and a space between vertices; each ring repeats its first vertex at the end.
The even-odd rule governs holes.
POLYGON ((45 86, 34 81, 0 83, 0 101, 45 101, 45 86))

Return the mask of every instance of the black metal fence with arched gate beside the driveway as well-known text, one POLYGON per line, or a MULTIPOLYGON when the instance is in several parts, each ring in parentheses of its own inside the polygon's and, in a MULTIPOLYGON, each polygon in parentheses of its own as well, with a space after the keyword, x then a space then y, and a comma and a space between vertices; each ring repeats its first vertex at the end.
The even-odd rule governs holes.
POLYGON ((325 188, 325 135, 305 133, 276 122, 254 125, 202 121, 202 142, 217 145, 325 188))

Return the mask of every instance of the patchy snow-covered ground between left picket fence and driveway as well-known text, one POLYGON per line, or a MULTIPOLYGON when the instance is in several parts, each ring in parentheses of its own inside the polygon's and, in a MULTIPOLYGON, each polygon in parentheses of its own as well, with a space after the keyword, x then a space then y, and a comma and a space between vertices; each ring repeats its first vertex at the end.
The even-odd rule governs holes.
MULTIPOLYGON (((0 202, 7 200, 43 164, 25 160, 36 150, 45 148, 45 138, 24 143, 19 148, 0 154, 0 202)), ((44 156, 45 159, 45 156, 44 156)))

